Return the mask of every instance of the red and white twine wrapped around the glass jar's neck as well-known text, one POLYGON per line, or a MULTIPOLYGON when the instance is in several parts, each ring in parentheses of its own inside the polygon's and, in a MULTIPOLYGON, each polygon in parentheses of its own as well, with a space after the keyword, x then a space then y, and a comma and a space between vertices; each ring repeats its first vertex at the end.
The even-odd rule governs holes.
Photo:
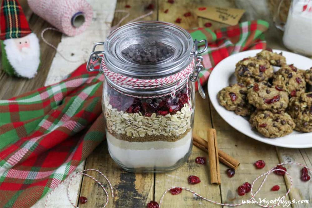
MULTIPOLYGON (((173 75, 170 75, 168 77, 152 79, 152 80, 138 79, 138 78, 128 77, 128 76, 124 76, 124 75, 115 73, 106 67, 104 58, 102 58, 102 61, 101 61, 101 68, 104 72, 106 79, 109 79, 110 81, 118 84, 119 86, 125 87, 125 88, 157 89, 159 87, 162 87, 165 85, 170 85, 170 84, 178 81, 171 92, 168 92, 166 94, 154 95, 154 96, 137 96, 137 95, 127 94, 127 93, 124 93, 124 92, 122 92, 122 91, 120 91, 120 90, 118 90, 118 89, 116 89, 110 85, 112 88, 114 88, 117 92, 119 92, 121 94, 127 95, 129 97, 134 97, 134 98, 156 98, 156 97, 162 97, 162 96, 167 96, 167 95, 171 95, 172 97, 175 97, 175 92, 178 90, 179 86, 183 83, 183 81, 186 78, 188 78, 193 73, 194 59, 182 71, 175 73, 173 75)), ((187 87, 186 94, 188 97, 188 104, 189 104, 189 106, 191 106, 190 97, 188 94, 188 83, 186 84, 186 87, 187 87)))

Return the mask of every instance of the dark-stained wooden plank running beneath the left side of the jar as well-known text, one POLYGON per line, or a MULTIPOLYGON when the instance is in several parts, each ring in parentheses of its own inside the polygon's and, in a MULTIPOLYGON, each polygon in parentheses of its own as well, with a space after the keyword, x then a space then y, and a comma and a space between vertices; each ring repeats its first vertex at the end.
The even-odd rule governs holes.
MULTIPOLYGON (((126 24, 132 19, 148 13, 146 7, 154 4, 154 13, 143 20, 157 19, 157 2, 156 1, 118 1, 116 10, 127 10, 130 16, 126 18, 121 25, 126 24), (130 5, 130 8, 125 8, 130 5)), ((115 12, 112 25, 114 26, 124 17, 125 13, 115 12)), ((95 41, 103 41, 95 40, 95 41)), ((154 174, 129 173, 121 170, 111 159, 107 150, 106 141, 104 141, 95 151, 87 158, 85 168, 96 168, 103 172, 109 179, 114 188, 114 200, 110 196, 108 207, 145 207, 146 204, 154 198, 154 174)), ((98 174, 91 174, 98 177, 98 174)), ((101 178, 100 181, 108 189, 107 182, 101 178)), ((109 191, 110 193, 110 191, 109 191)), ((102 207, 105 203, 106 196, 100 186, 88 177, 83 178, 80 196, 86 196, 88 203, 79 204, 80 207, 102 207)))

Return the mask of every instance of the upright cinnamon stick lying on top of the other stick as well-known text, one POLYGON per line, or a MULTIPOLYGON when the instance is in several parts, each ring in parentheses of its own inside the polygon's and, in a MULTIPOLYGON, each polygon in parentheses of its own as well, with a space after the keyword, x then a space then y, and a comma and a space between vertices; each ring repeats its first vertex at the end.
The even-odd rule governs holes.
POLYGON ((216 129, 210 128, 207 131, 207 148, 210 165, 210 183, 221 184, 216 129))

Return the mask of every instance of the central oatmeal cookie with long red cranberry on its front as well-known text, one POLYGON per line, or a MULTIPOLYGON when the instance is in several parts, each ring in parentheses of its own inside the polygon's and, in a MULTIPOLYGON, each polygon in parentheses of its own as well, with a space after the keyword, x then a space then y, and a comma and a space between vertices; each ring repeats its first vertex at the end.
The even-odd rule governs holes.
POLYGON ((249 86, 247 99, 259 110, 284 111, 288 105, 288 94, 275 89, 270 83, 260 82, 249 86))

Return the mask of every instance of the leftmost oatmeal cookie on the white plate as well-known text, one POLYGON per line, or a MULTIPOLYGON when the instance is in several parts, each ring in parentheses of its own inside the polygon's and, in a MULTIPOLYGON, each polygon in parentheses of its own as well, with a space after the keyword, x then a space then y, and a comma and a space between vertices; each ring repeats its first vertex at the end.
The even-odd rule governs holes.
POLYGON ((227 110, 234 111, 234 113, 241 116, 251 114, 252 106, 247 101, 247 88, 245 85, 230 85, 220 90, 217 96, 219 103, 227 110))

